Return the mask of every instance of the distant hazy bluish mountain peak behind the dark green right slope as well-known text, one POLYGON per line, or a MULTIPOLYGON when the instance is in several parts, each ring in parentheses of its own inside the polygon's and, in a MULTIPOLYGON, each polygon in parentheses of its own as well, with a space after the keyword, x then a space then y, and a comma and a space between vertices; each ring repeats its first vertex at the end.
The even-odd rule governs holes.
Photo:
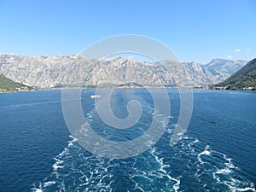
POLYGON ((230 61, 224 59, 213 59, 211 62, 204 65, 213 76, 217 78, 218 81, 224 81, 230 77, 231 74, 236 73, 241 67, 245 66, 247 61, 237 60, 230 61))

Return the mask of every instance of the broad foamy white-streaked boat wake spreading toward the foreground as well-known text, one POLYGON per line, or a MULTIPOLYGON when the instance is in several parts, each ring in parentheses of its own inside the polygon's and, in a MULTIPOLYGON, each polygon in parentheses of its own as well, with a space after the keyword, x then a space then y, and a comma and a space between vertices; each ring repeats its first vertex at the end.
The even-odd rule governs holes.
MULTIPOLYGON (((85 115, 87 123, 97 120, 95 113, 85 115)), ((148 113, 154 115, 152 108, 148 113)), ((255 191, 240 168, 207 143, 185 135, 170 147, 175 126, 169 125, 148 151, 123 160, 91 154, 70 136, 67 147, 55 156, 52 172, 33 183, 32 191, 255 191)))

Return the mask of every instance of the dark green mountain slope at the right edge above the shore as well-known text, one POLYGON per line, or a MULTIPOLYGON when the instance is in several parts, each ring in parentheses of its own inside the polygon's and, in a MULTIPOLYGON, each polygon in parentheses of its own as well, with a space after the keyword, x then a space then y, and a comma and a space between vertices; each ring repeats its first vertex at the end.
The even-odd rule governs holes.
POLYGON ((256 90, 256 58, 214 87, 224 87, 227 90, 256 90))

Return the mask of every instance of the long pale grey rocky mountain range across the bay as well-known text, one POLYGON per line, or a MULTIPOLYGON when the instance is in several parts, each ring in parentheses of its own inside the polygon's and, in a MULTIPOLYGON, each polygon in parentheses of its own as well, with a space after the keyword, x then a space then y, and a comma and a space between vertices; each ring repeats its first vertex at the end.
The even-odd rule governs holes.
POLYGON ((215 84, 223 79, 220 69, 218 74, 212 73, 210 69, 210 65, 207 67, 197 62, 171 60, 143 62, 122 57, 99 60, 84 55, 0 54, 0 72, 9 79, 37 88, 93 87, 107 84, 199 86, 215 84))

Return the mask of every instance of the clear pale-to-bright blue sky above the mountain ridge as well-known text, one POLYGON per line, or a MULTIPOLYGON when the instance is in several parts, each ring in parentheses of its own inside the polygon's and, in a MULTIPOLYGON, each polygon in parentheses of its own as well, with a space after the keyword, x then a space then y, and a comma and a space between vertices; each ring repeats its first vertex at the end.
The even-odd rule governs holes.
POLYGON ((74 55, 102 38, 137 34, 180 61, 249 61, 255 24, 255 0, 0 0, 0 53, 74 55))

